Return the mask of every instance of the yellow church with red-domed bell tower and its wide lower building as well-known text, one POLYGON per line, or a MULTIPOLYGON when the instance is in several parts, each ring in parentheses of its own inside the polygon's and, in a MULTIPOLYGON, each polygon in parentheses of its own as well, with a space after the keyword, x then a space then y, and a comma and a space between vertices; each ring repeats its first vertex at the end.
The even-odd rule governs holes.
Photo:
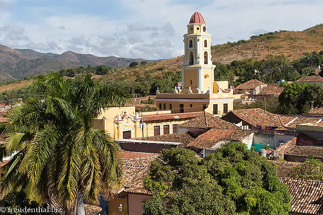
POLYGON ((159 93, 156 103, 160 110, 171 113, 206 111, 222 116, 233 110, 233 101, 241 95, 234 95, 228 81, 214 81, 215 66, 211 61, 211 34, 207 32, 203 16, 195 12, 184 35, 184 64, 182 89, 159 93))

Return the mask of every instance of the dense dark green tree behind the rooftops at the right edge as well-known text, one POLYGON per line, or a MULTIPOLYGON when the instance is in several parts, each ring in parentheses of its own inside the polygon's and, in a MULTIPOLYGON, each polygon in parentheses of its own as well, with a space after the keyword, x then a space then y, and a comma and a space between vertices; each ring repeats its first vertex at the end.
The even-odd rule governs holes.
POLYGON ((282 114, 305 114, 312 106, 323 105, 323 90, 318 84, 286 84, 284 91, 279 95, 279 106, 282 114))

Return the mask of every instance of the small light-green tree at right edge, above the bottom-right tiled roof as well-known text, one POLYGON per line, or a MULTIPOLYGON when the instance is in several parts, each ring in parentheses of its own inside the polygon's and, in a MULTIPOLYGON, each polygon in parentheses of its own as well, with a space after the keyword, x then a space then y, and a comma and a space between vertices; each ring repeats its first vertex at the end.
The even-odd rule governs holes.
POLYGON ((292 174, 295 178, 323 181, 323 162, 310 155, 294 167, 292 174))

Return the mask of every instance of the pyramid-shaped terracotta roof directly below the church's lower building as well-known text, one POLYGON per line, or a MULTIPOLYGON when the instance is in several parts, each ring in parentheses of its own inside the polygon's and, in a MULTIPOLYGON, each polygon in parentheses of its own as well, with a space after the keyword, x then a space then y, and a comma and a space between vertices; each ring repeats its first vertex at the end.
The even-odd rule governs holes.
POLYGON ((227 121, 221 120, 218 117, 213 116, 209 113, 204 113, 190 121, 182 123, 177 127, 181 128, 198 128, 198 129, 210 129, 210 128, 217 128, 217 129, 240 129, 238 126, 229 123, 227 121))

